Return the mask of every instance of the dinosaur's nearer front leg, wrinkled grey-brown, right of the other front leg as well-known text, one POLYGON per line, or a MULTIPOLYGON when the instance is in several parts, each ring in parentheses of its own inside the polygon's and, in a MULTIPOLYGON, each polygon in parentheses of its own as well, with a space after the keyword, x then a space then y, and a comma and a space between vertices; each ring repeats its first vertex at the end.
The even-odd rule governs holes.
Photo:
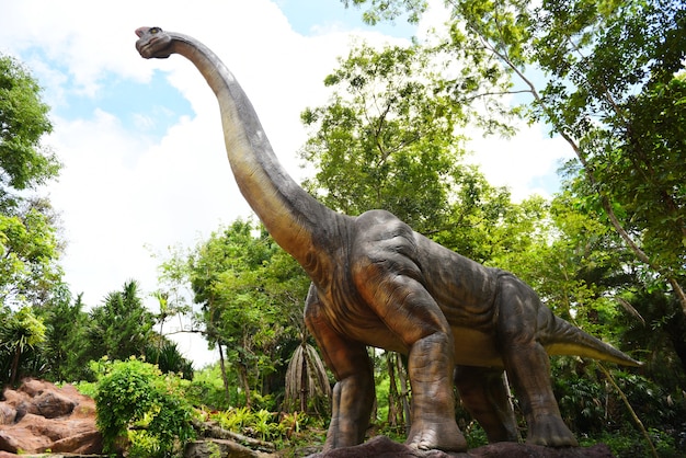
POLYGON ((359 291, 408 348, 412 426, 405 444, 421 450, 466 450, 455 422, 455 342, 441 308, 419 280, 399 274, 411 272, 407 259, 359 265, 359 291), (388 266, 395 270, 385 270, 388 266))

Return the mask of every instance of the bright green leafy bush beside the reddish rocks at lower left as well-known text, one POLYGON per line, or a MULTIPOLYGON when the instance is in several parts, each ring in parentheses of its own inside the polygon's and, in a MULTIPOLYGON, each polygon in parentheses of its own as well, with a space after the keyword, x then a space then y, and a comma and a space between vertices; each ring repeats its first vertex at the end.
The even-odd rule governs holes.
POLYGON ((140 457, 164 457, 195 436, 193 409, 173 376, 134 357, 100 364, 95 404, 105 450, 122 439, 140 457))

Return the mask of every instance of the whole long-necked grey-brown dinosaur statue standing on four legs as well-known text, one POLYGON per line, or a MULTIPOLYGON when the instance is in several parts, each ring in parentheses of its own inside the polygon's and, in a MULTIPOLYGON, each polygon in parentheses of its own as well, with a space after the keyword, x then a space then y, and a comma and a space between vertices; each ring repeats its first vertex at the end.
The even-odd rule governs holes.
POLYGON ((180 54, 219 102, 226 149, 243 196, 312 284, 305 320, 336 378, 324 450, 361 444, 375 397, 367 346, 408 356, 418 450, 466 450, 454 386, 490 442, 517 440, 503 373, 528 424, 527 442, 576 446, 552 393, 549 354, 640 363, 557 318, 513 274, 455 253, 384 210, 338 214, 279 164, 233 75, 196 39, 136 31, 144 58, 180 54))

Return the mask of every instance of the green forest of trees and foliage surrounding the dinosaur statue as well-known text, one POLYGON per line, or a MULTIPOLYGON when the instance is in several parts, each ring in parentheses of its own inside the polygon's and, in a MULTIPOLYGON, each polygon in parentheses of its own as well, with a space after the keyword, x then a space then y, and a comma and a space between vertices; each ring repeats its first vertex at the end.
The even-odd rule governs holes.
MULTIPOLYGON (((424 11, 414 0, 343 3, 359 7, 369 24, 418 21, 424 11)), ((686 432, 683 4, 446 5, 449 26, 431 39, 361 43, 339 59, 324 79, 328 103, 302 107, 309 137, 299 154, 312 171, 302 185, 335 210, 386 208, 468 257, 514 272, 557 314, 645 362, 641 369, 607 370, 553 358, 561 410, 581 437, 620 442, 618 454, 649 447, 679 456, 686 432), (544 123, 573 154, 551 198, 515 201, 465 159, 468 128, 516 137, 518 119, 544 123)), ((308 280, 258 221, 238 219, 159 259, 155 310, 144 307, 135 280, 99 306, 72 294, 79 286, 62 280, 59 264, 59 208, 39 193, 59 174, 57 153, 41 145, 52 129, 49 107, 21 62, 2 57, 0 64, 3 383, 25 376, 95 380, 98 365, 89 362, 137 356, 192 380, 198 403, 325 419, 319 396, 330 377, 293 380, 288 370, 291 360, 305 374, 317 367, 301 319, 308 280), (169 340, 165 328, 181 316, 219 351, 216 368, 194 374, 169 340), (206 379, 213 370, 219 387, 206 379), (287 396, 289 379, 311 389, 307 399, 287 396)), ((402 358, 375 356, 385 387, 376 424, 402 434, 411 397, 402 358)), ((478 436, 469 415, 458 415, 478 436)))

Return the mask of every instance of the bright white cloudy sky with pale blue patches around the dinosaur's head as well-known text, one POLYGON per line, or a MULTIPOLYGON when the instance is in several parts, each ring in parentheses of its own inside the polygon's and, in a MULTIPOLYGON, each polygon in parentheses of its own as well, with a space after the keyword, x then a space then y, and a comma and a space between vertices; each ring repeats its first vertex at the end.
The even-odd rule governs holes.
MULTIPOLYGON (((327 103, 322 81, 336 58, 361 39, 380 46, 421 38, 445 12, 433 8, 418 26, 399 20, 370 27, 359 16, 339 0, 0 0, 0 54, 28 68, 52 107, 54 130, 44 145, 64 167, 41 193, 60 214, 71 293, 98 306, 136 279, 156 310, 151 293, 168 248, 195 247, 252 214, 226 159, 211 91, 181 56, 140 58, 137 27, 161 26, 209 46, 300 181, 297 151, 307 135, 299 114, 327 103)), ((468 147, 469 161, 515 199, 551 195, 560 160, 570 157, 540 126, 523 126, 507 140, 475 135, 468 147)), ((216 359, 197 336, 173 339, 196 368, 216 359)))

